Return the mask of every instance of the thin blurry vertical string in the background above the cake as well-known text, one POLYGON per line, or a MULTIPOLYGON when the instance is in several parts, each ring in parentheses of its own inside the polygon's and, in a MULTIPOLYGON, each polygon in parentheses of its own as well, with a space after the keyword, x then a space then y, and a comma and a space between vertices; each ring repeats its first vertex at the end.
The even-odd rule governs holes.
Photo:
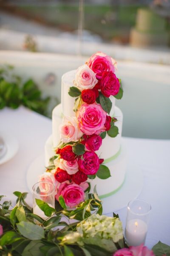
POLYGON ((79 56, 82 56, 83 24, 84 24, 84 0, 79 0, 78 52, 77 52, 79 56))

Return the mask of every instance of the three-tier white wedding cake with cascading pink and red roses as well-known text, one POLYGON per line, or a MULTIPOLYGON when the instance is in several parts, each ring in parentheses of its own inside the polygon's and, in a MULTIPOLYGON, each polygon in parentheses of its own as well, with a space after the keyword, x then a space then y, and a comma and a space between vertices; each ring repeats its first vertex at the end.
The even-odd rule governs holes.
POLYGON ((96 190, 105 198, 125 180, 126 154, 122 143, 121 80, 116 61, 96 52, 77 70, 62 76, 61 104, 52 112, 52 135, 45 143, 40 180, 55 184, 56 199, 75 206, 84 192, 96 190))

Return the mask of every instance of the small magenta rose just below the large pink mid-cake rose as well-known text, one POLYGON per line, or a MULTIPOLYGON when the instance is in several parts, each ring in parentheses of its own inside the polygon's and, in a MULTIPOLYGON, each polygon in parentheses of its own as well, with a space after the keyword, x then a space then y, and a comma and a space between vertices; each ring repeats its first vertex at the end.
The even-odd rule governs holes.
POLYGON ((97 134, 93 134, 85 140, 85 147, 89 151, 99 150, 101 145, 102 145, 102 138, 97 134))

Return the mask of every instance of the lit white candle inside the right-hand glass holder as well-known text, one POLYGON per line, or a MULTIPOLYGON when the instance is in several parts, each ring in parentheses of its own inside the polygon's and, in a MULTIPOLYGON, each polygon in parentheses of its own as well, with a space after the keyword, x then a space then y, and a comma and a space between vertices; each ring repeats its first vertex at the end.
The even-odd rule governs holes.
POLYGON ((147 224, 140 219, 127 221, 125 238, 128 245, 138 246, 144 243, 147 234, 147 224))

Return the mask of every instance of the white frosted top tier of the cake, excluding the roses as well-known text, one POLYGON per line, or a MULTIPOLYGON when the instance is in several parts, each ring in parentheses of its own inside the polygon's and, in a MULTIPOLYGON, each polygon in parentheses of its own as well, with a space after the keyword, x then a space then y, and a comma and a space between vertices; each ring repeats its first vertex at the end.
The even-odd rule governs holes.
MULTIPOLYGON (((61 112, 63 116, 75 116, 76 113, 73 111, 75 97, 71 97, 68 94, 70 87, 74 85, 76 70, 71 70, 65 73, 61 79, 61 112)), ((115 106, 115 98, 110 96, 112 102, 112 108, 110 115, 112 116, 114 113, 114 106, 115 106)))

